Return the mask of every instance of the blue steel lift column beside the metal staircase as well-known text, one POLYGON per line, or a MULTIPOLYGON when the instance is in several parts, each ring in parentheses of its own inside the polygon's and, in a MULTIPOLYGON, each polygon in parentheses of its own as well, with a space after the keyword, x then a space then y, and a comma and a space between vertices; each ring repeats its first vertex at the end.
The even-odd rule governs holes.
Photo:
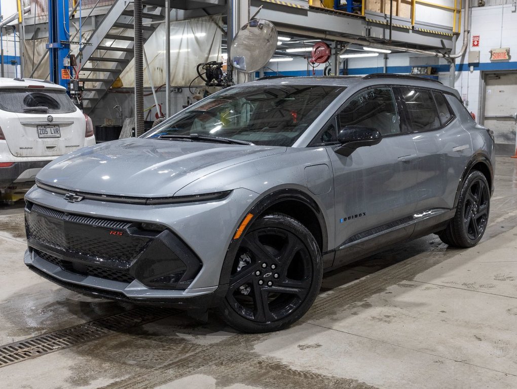
POLYGON ((71 70, 65 66, 70 52, 68 0, 49 0, 50 81, 68 88, 71 70))

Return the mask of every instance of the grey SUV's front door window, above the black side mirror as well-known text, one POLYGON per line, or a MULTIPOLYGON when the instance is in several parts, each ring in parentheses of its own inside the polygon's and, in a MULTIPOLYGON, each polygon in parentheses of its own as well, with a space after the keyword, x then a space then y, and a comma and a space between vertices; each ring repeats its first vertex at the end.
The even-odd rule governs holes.
POLYGON ((361 92, 339 114, 341 127, 364 126, 383 135, 400 133, 397 105, 391 88, 374 88, 361 92))

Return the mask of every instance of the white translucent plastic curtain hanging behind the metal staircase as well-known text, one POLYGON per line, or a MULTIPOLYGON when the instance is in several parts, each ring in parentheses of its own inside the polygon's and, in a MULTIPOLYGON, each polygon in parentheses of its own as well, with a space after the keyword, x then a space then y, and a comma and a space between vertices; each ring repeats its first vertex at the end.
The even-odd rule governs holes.
MULTIPOLYGON (((171 85, 186 86, 197 76, 196 66, 221 58, 221 15, 171 22, 171 85)), ((165 24, 145 42, 154 86, 165 84, 165 24)), ((134 86, 134 60, 120 75, 124 87, 134 86)), ((192 85, 203 85, 198 77, 192 85)), ((144 62, 144 86, 150 86, 144 62)))

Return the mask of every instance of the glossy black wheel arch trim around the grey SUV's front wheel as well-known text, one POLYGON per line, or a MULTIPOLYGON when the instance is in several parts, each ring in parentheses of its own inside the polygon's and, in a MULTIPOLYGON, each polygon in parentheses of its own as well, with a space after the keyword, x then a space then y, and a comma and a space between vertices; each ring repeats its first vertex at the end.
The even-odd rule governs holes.
POLYGON ((230 245, 228 246, 228 250, 226 251, 226 255, 224 257, 223 266, 221 269, 221 275, 219 277, 219 286, 224 287, 230 282, 230 274, 232 271, 233 261, 235 259, 235 255, 237 254, 237 250, 240 246, 240 242, 242 238, 246 235, 246 231, 248 227, 260 216, 264 213, 264 211, 271 206, 280 203, 285 200, 293 200, 299 201, 299 203, 306 205, 311 208, 311 210, 316 215, 318 222, 320 223, 320 229, 322 232, 322 256, 324 256, 326 251, 328 250, 328 232, 327 225, 325 222, 325 218, 320 207, 317 205, 316 201, 307 193, 297 190, 297 189, 281 189, 275 192, 268 193, 261 199, 259 199, 248 211, 242 216, 242 219, 248 214, 253 214, 253 219, 248 223, 244 231, 238 239, 232 239, 230 245))

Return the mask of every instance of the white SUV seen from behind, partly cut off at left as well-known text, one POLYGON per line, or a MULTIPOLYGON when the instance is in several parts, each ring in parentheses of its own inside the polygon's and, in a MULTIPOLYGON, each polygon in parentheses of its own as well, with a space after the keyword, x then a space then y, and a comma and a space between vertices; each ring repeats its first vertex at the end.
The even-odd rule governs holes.
POLYGON ((62 86, 0 78, 0 191, 29 186, 59 155, 95 145, 92 120, 62 86))

